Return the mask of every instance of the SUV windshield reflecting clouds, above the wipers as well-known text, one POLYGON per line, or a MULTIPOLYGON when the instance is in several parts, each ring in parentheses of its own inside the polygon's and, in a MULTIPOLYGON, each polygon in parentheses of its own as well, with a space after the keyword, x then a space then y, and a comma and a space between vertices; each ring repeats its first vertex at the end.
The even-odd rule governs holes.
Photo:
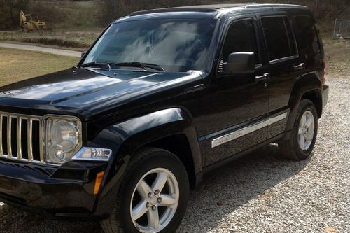
POLYGON ((156 64, 169 72, 202 70, 216 20, 161 19, 112 24, 94 45, 84 64, 156 64))

